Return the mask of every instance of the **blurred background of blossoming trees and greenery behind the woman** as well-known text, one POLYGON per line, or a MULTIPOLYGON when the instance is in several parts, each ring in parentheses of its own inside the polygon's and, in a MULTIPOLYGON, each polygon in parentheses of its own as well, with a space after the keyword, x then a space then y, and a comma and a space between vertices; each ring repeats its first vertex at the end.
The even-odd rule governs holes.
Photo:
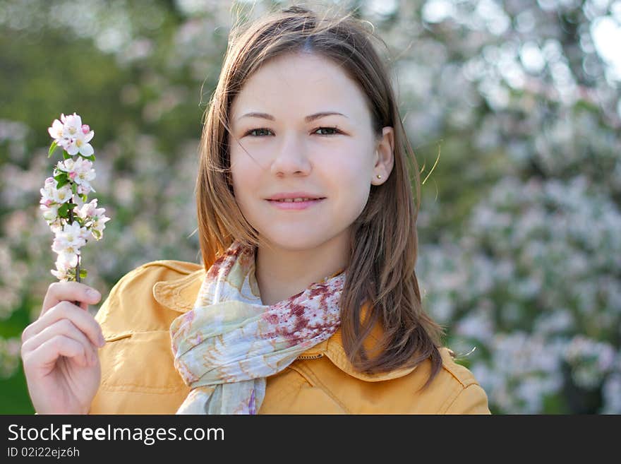
MULTIPOLYGON (((52 121, 95 130, 90 199, 111 220, 83 249, 88 285, 199 263, 198 139, 229 28, 294 3, 0 1, 0 413, 34 412, 20 333, 55 281, 52 121)), ((621 1, 322 4, 387 45, 426 179, 423 304, 492 412, 621 413, 621 1)))

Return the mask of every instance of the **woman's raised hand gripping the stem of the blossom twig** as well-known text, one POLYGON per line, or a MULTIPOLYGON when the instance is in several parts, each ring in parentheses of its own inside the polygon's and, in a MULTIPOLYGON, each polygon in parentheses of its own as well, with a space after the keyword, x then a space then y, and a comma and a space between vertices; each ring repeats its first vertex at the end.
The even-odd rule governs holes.
POLYGON ((83 283, 54 282, 39 319, 24 329, 21 357, 38 414, 88 413, 102 376, 98 348, 105 344, 88 304, 100 299, 83 283))

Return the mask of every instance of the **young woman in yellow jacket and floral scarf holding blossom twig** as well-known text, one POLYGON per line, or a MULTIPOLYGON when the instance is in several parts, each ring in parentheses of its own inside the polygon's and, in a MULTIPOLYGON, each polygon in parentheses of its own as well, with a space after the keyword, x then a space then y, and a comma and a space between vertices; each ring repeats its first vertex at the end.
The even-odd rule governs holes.
POLYGON ((300 7, 234 28, 203 263, 132 270, 95 318, 97 292, 50 285, 23 332, 38 413, 489 413, 421 305, 418 167, 372 38, 300 7))

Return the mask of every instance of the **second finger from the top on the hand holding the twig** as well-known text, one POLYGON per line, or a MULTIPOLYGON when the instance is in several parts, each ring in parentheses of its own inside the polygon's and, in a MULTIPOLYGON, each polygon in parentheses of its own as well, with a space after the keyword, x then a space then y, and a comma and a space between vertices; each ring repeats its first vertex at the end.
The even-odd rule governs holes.
POLYGON ((52 324, 61 319, 71 321, 73 326, 88 336, 93 345, 99 347, 104 345, 102 328, 95 321, 95 318, 87 311, 67 301, 59 302, 55 307, 52 307, 43 316, 31 323, 30 326, 26 327, 22 333, 22 343, 27 343, 30 338, 35 337, 35 335, 44 331, 45 328, 52 326, 52 324))

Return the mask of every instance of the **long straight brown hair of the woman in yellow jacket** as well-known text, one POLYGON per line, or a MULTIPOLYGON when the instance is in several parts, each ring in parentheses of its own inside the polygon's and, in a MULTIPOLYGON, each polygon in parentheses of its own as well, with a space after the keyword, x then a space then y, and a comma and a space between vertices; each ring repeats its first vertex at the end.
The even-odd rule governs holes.
POLYGON ((386 182, 371 186, 366 207, 352 227, 351 259, 340 300, 343 346, 354 367, 369 374, 414 367, 430 358, 426 387, 442 367, 438 347, 444 333, 421 303, 414 270, 421 191, 418 164, 373 38, 381 41, 351 13, 320 17, 301 6, 233 26, 200 141, 196 182, 200 249, 207 269, 234 239, 247 246, 261 242, 237 206, 231 186, 229 110, 243 84, 261 64, 282 54, 312 52, 332 59, 366 95, 377 136, 385 126, 394 129, 392 172, 386 182), (363 320, 365 304, 368 312, 363 320), (378 322, 384 335, 379 355, 370 357, 363 340, 378 322))

